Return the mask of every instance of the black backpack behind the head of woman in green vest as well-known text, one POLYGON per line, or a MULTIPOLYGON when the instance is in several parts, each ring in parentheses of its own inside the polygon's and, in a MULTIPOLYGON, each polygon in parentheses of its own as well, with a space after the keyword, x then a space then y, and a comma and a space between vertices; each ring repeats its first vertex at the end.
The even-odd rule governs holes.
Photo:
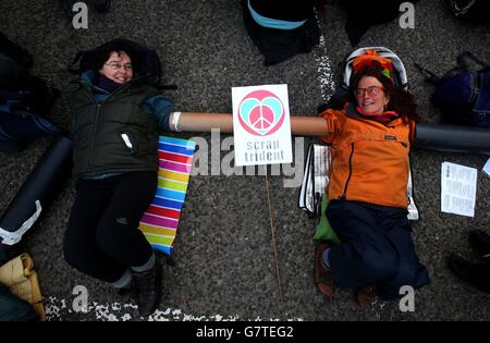
POLYGON ((112 39, 93 50, 78 51, 70 64, 69 71, 72 74, 79 75, 87 70, 96 70, 97 58, 100 53, 121 50, 130 54, 131 62, 135 65, 139 76, 147 77, 148 83, 159 88, 175 88, 175 86, 160 86, 162 71, 157 51, 125 38, 112 39), (76 64, 78 64, 78 68, 75 68, 76 64))

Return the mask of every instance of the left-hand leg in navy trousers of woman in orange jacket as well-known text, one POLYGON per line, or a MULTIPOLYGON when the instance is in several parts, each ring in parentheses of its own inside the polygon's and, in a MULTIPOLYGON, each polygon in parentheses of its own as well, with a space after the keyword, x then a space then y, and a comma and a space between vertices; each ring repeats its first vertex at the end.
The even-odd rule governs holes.
POLYGON ((376 210, 357 201, 333 200, 327 217, 342 241, 328 253, 340 289, 372 285, 395 275, 399 257, 380 231, 376 210))

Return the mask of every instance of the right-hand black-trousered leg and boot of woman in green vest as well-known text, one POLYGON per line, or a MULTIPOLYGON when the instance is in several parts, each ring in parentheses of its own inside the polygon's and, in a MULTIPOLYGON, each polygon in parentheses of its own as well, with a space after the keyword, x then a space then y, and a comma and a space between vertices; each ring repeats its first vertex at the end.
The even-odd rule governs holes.
POLYGON ((114 260, 131 267, 142 316, 150 315, 161 296, 162 267, 138 229, 157 192, 157 173, 117 176, 110 205, 97 228, 97 245, 114 260))

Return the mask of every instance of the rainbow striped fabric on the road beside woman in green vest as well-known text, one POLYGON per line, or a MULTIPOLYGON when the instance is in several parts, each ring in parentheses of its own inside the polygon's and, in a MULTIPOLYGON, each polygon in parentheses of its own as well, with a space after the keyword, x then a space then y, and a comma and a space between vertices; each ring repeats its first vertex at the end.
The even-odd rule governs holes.
POLYGON ((173 252, 173 241, 187 192, 196 143, 160 136, 157 194, 139 221, 139 230, 156 250, 173 252))

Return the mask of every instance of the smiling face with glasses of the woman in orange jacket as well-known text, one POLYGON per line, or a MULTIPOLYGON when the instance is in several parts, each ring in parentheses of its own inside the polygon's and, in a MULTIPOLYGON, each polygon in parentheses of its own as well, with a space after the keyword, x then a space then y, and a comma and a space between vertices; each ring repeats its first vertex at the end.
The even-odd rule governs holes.
POLYGON ((390 102, 390 97, 384 93, 383 85, 373 76, 360 78, 355 94, 357 105, 365 113, 384 113, 384 107, 390 102))

